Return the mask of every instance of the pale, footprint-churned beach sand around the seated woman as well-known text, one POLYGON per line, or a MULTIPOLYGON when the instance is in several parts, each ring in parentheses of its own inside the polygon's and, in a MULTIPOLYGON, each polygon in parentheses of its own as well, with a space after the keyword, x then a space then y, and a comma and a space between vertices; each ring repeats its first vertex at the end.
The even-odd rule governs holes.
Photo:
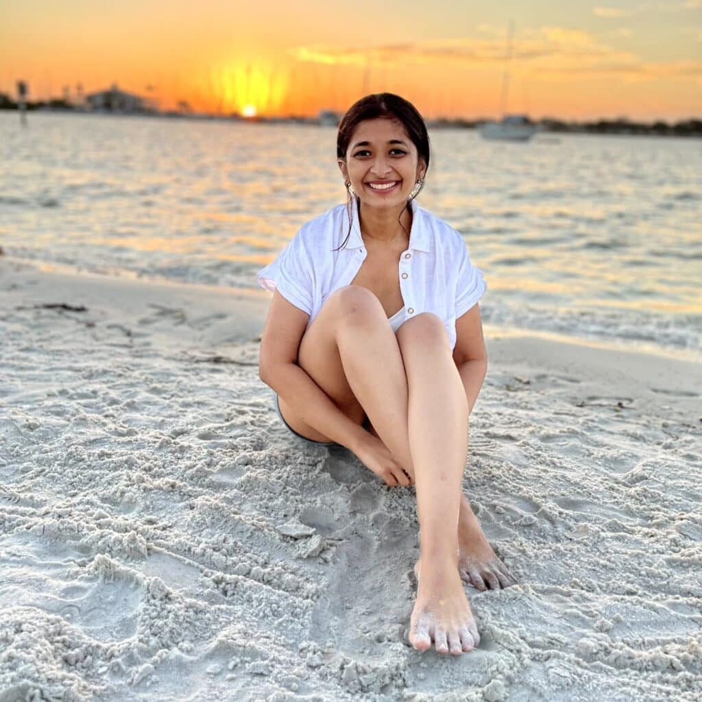
POLYGON ((464 489, 522 584, 421 654, 413 490, 280 424, 267 300, 0 258, 1 702, 700 698, 701 364, 488 339, 464 489))

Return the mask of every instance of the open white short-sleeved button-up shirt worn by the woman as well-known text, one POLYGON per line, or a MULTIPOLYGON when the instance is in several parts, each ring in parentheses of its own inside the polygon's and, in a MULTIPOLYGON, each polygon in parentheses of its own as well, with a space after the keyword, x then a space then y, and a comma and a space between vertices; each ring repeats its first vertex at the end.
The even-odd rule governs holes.
MULTIPOLYGON (((343 249, 349 219, 345 204, 336 205, 305 223, 279 256, 257 274, 266 290, 279 293, 310 315, 312 324, 326 298, 350 284, 368 252, 354 201, 351 233, 343 249)), ((482 271, 470 263, 463 237, 444 220, 411 200, 409 247, 399 257, 399 287, 404 307, 390 317, 394 331, 420 312, 444 322, 451 349, 456 346, 456 319, 468 312, 486 290, 482 271)))

